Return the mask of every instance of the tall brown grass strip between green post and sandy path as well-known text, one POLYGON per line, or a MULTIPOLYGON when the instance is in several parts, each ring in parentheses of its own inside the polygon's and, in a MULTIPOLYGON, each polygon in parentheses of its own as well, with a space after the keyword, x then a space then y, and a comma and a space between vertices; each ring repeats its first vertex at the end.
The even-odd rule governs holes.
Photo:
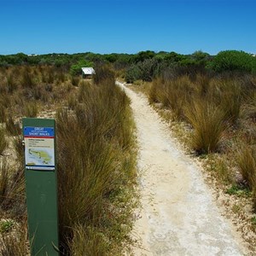
POLYGON ((62 251, 119 254, 135 204, 129 100, 107 79, 80 84, 78 101, 57 114, 62 251))

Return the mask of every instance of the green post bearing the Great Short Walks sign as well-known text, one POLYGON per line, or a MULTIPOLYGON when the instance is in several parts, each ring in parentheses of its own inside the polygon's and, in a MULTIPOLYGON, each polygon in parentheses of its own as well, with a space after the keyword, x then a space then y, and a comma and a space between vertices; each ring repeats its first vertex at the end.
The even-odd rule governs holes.
POLYGON ((57 256, 59 247, 55 120, 23 119, 28 231, 32 256, 57 256))

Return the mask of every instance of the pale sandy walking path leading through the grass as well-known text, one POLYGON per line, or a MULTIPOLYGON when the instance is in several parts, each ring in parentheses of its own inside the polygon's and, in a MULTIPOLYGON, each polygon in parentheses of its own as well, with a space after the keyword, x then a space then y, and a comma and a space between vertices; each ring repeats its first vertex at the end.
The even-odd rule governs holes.
POLYGON ((135 255, 243 255, 239 237, 218 211, 192 160, 177 149, 170 131, 143 95, 131 98, 140 148, 142 211, 135 255))

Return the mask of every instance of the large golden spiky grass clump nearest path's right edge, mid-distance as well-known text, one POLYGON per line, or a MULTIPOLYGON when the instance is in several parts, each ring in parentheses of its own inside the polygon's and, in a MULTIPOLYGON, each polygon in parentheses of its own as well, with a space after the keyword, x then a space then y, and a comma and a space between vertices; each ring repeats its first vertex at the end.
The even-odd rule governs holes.
POLYGON ((186 108, 186 117, 194 128, 192 148, 199 154, 218 151, 227 125, 224 112, 211 102, 197 101, 186 108))

